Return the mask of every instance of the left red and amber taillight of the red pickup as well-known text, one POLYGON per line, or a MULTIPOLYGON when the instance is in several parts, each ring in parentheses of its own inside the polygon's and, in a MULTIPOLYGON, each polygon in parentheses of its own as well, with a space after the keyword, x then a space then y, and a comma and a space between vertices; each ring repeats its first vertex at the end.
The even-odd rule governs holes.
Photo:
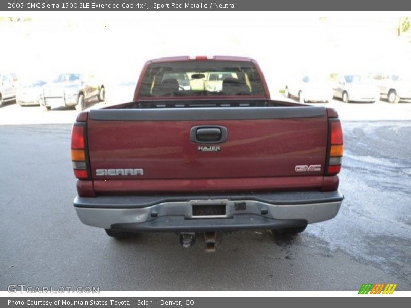
POLYGON ((71 160, 74 176, 81 180, 89 178, 86 155, 86 123, 74 123, 71 131, 71 160))

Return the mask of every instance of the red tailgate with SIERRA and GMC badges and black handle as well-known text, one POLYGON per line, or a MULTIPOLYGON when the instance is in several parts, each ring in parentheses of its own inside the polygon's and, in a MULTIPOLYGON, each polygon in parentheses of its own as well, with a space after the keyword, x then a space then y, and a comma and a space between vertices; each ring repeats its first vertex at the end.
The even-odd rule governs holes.
POLYGON ((319 188, 327 127, 325 108, 312 106, 91 110, 87 139, 94 188, 319 188), (218 129, 226 132, 221 142, 218 129), (297 171, 301 165, 321 167, 297 171))

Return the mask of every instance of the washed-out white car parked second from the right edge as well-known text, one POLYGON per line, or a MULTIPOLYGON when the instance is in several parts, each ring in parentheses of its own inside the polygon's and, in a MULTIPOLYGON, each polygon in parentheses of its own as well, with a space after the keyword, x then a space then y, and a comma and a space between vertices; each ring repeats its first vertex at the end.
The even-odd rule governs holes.
POLYGON ((362 75, 340 75, 333 88, 334 97, 344 103, 370 102, 380 99, 380 90, 371 80, 362 75))

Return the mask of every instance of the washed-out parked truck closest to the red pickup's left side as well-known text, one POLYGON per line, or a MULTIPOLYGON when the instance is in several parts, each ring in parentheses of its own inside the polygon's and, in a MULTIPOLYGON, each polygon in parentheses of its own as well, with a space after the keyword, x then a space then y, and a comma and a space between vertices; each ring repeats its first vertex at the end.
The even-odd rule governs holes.
POLYGON ((41 105, 50 110, 55 107, 74 106, 77 110, 86 108, 86 101, 97 97, 105 100, 105 87, 95 81, 94 76, 79 73, 64 73, 43 88, 41 105))

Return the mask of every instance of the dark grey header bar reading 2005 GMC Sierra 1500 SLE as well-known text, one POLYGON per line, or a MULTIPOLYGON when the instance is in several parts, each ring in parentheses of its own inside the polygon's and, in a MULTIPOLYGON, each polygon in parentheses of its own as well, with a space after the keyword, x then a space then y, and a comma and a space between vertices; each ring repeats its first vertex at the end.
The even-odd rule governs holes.
POLYGON ((410 11, 404 0, 6 0, 5 12, 33 11, 410 11))

